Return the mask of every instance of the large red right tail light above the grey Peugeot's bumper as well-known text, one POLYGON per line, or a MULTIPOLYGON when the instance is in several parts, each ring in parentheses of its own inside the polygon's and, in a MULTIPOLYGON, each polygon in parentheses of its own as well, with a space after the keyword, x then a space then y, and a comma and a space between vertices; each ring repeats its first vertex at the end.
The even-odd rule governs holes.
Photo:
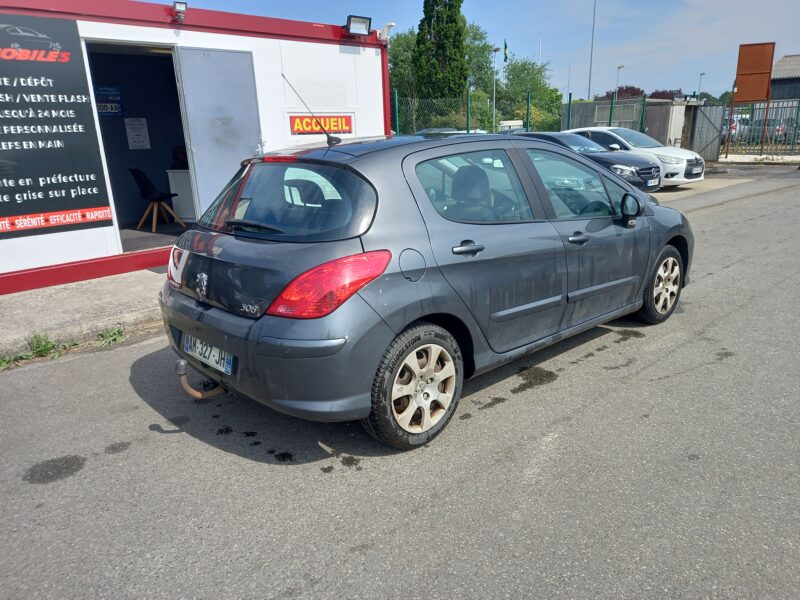
POLYGON ((392 253, 375 250, 323 263, 295 277, 267 309, 290 319, 318 319, 339 308, 350 296, 386 270, 392 253))

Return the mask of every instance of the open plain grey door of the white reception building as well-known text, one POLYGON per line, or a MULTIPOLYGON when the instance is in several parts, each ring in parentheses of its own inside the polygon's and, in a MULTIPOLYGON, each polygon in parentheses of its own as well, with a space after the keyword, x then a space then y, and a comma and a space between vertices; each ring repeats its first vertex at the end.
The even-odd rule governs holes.
POLYGON ((176 69, 198 216, 261 145, 253 55, 178 48, 176 69))

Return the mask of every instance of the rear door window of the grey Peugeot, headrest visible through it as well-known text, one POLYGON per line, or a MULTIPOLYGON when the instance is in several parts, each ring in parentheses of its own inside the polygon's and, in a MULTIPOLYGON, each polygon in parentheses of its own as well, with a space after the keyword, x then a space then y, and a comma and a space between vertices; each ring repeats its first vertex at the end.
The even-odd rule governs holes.
POLYGON ((459 223, 508 223, 533 219, 511 159, 503 150, 452 154, 421 162, 417 177, 431 204, 459 223))

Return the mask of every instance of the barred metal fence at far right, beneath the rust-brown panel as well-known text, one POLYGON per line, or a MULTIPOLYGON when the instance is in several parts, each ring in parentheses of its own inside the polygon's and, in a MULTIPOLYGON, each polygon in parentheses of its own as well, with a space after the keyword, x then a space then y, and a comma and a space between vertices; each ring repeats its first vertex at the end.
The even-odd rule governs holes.
POLYGON ((800 99, 740 104, 725 109, 720 143, 725 154, 800 154, 800 99))

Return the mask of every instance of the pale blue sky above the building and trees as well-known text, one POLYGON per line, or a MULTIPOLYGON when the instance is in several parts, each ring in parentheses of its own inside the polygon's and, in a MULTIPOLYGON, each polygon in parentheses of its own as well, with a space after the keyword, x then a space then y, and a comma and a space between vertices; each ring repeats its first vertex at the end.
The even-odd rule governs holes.
MULTIPOLYGON (((505 40, 517 57, 544 59, 552 85, 585 98, 594 1, 464 0, 462 12, 497 46, 505 40)), ((393 21, 394 32, 416 29, 422 17, 422 0, 189 0, 189 7, 334 24, 355 14, 372 17, 373 29, 393 21)), ((701 91, 719 96, 731 88, 739 44, 753 42, 775 42, 775 60, 800 54, 800 0, 597 0, 592 94, 613 89, 623 65, 620 85, 691 93, 704 72, 701 91)))

